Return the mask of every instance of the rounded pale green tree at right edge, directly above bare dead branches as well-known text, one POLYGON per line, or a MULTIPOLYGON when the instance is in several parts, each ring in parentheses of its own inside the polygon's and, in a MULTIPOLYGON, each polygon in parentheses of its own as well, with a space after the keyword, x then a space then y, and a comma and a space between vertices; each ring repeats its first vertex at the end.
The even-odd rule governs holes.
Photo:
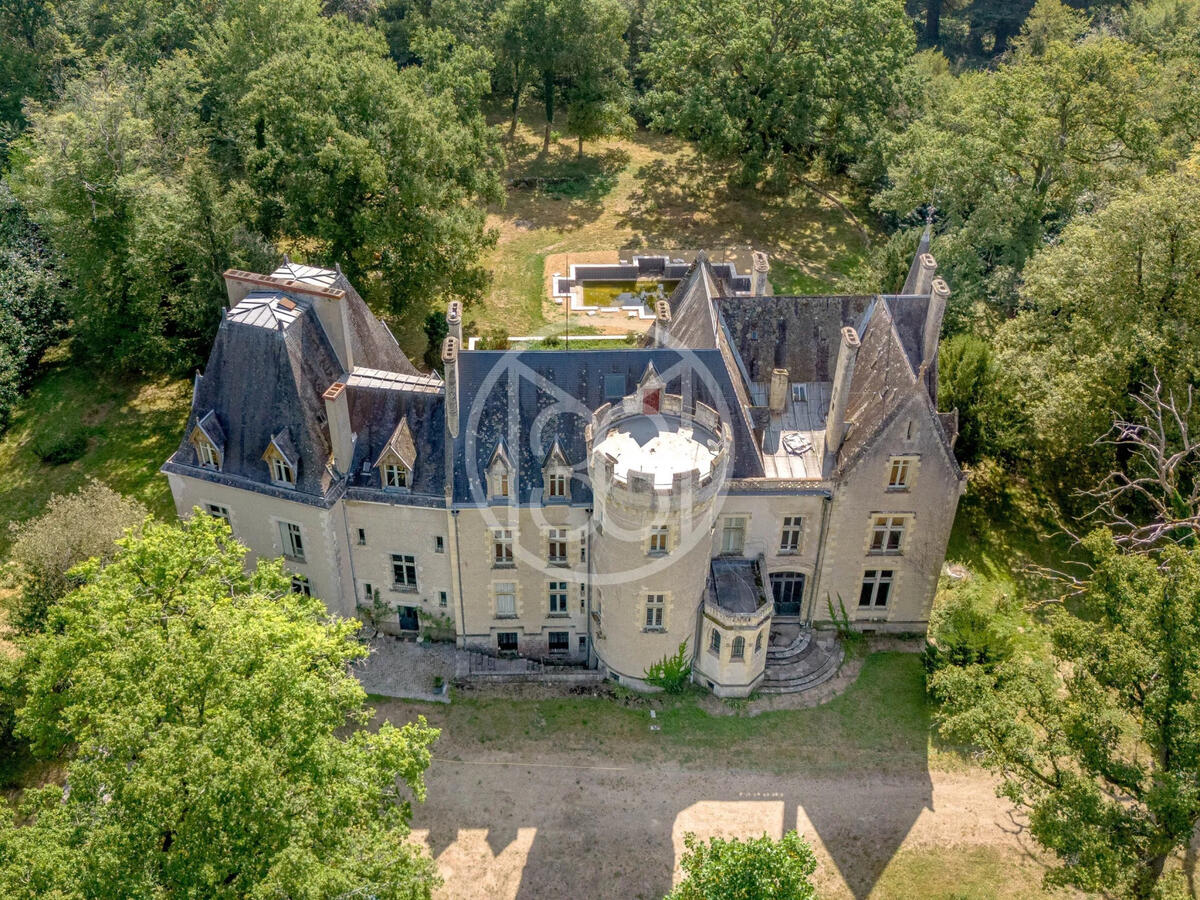
MULTIPOLYGON (((1177 394, 1200 374, 1200 173, 1146 179, 1090 216, 1025 270, 1022 311, 997 358, 1030 421, 1028 452, 1055 478, 1108 472, 1094 444, 1130 395, 1154 380, 1177 394)), ((1182 396, 1182 394, 1181 394, 1182 396)), ((1079 479, 1075 479, 1079 484, 1079 479)))

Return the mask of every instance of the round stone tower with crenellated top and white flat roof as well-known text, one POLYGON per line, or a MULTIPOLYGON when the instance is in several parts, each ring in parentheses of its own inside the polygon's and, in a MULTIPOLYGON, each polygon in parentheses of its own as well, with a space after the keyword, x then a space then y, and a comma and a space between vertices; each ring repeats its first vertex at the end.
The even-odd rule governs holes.
POLYGON ((696 652, 730 427, 648 377, 598 409, 587 438, 594 648, 601 668, 646 688, 646 670, 680 643, 696 652))

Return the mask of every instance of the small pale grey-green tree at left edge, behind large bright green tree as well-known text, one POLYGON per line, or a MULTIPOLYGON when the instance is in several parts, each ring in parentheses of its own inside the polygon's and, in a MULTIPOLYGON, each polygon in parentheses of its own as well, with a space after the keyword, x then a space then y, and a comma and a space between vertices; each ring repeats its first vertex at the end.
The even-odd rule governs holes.
POLYGON ((114 541, 149 515, 137 500, 90 480, 74 493, 53 494, 37 518, 11 523, 20 593, 8 624, 24 634, 41 631, 50 606, 79 584, 72 570, 89 559, 110 559, 114 541))

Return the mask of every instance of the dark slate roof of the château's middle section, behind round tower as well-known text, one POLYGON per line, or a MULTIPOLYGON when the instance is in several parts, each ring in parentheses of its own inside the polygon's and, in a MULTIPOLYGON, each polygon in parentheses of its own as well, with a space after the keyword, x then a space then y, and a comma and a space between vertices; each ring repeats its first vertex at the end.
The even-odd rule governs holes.
POLYGON ((517 467, 518 503, 529 503, 542 490, 542 463, 556 440, 575 468, 571 500, 589 503, 590 487, 581 478, 587 474, 584 428, 595 409, 634 392, 652 361, 667 391, 727 416, 732 476, 761 478, 762 460, 719 350, 470 350, 458 356, 462 420, 454 446, 455 503, 486 498, 486 467, 502 440, 517 467))

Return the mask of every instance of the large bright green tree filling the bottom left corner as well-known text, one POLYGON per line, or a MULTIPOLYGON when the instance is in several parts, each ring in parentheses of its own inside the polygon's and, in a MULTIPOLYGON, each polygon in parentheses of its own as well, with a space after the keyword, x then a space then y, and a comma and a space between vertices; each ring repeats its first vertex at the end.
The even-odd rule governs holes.
POLYGON ((437 732, 365 728, 358 623, 199 510, 120 547, 26 643, 18 730, 66 781, 0 821, 0 894, 428 898, 437 732))

